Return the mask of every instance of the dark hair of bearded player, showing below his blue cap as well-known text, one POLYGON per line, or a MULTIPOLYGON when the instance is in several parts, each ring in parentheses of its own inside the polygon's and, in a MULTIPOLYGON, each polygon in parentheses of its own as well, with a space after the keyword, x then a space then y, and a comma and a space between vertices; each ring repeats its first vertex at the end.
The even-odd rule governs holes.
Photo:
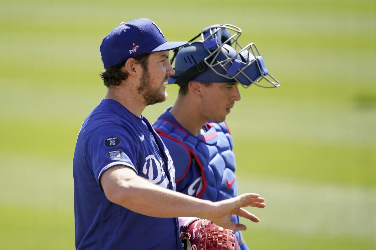
MULTIPOLYGON (((147 70, 147 62, 149 59, 150 53, 144 53, 135 57, 136 63, 141 64, 144 70, 147 70)), ((109 86, 118 86, 121 84, 121 81, 124 81, 128 78, 128 72, 123 71, 125 61, 122 63, 115 64, 110 66, 105 71, 100 73, 100 78, 103 80, 103 84, 106 87, 109 86)))

